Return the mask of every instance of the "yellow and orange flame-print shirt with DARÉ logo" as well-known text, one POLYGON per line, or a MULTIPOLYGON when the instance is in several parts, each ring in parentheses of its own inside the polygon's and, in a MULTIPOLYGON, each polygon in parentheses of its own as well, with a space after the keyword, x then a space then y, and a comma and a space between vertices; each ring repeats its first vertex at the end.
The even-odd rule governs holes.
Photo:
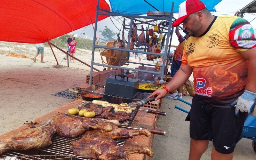
POLYGON ((243 93, 248 61, 239 52, 256 46, 255 34, 247 20, 215 16, 203 35, 188 38, 182 65, 193 68, 196 94, 205 102, 229 108, 243 93))

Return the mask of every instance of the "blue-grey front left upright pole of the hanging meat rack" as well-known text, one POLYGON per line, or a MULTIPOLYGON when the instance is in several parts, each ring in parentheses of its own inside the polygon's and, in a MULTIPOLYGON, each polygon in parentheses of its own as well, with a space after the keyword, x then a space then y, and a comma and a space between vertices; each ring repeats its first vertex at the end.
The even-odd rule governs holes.
POLYGON ((92 44, 92 61, 91 61, 91 71, 90 71, 90 80, 89 85, 92 85, 92 68, 93 68, 93 61, 94 61, 94 51, 95 51, 95 41, 96 41, 96 32, 97 32, 97 23, 98 23, 98 14, 99 14, 99 6, 100 6, 100 0, 97 2, 96 7, 96 17, 95 17, 95 29, 93 34, 93 44, 92 44))

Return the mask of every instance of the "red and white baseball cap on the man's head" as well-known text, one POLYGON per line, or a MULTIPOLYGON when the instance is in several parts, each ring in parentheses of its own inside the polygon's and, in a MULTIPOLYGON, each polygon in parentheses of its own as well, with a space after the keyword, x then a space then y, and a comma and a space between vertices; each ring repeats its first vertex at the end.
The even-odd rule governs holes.
POLYGON ((172 27, 178 26, 189 14, 204 8, 206 8, 205 5, 199 0, 187 0, 182 2, 179 6, 179 18, 172 23, 172 27))

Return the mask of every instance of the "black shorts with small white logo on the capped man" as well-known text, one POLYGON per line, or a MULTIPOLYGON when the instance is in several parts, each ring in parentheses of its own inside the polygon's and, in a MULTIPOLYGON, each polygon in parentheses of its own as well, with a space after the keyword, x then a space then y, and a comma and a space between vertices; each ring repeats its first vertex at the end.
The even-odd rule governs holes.
POLYGON ((235 116, 235 107, 214 107, 195 95, 186 120, 190 121, 190 138, 212 140, 216 151, 230 154, 241 136, 246 117, 245 112, 235 116))

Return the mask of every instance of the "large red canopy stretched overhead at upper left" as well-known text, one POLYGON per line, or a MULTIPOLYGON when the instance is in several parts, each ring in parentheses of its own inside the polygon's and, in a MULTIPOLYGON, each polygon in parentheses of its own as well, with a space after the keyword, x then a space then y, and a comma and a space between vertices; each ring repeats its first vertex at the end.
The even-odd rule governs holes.
MULTIPOLYGON (((97 0, 1 0, 0 41, 44 43, 95 23, 96 5, 97 0)), ((100 8, 110 10, 105 0, 100 8)))

